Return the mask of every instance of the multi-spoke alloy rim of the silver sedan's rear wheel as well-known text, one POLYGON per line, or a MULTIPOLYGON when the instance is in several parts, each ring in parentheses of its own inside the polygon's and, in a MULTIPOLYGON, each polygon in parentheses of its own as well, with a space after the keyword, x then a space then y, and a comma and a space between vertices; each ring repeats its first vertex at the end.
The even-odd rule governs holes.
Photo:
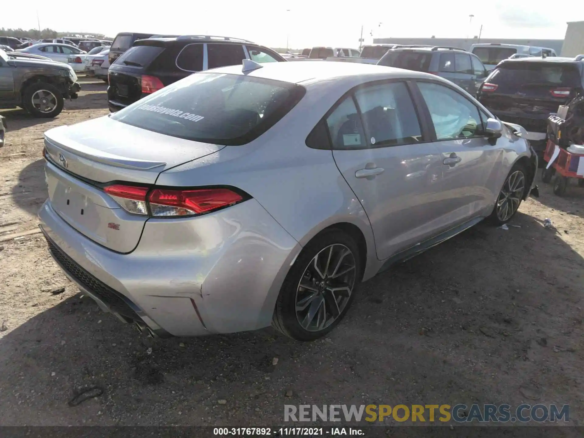
POLYGON ((353 252, 342 244, 321 249, 308 263, 296 290, 296 318, 302 328, 318 332, 342 314, 355 284, 353 252))

